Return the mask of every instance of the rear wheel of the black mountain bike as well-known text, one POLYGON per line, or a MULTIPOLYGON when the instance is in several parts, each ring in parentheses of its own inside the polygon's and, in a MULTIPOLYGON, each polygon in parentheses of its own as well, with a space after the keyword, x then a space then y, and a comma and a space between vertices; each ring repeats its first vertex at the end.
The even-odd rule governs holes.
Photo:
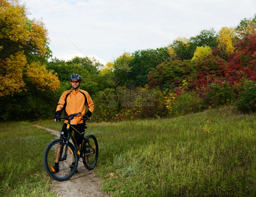
POLYGON ((82 152, 86 155, 89 154, 85 157, 83 157, 83 163, 86 169, 92 170, 98 161, 98 156, 99 156, 99 146, 97 139, 94 135, 89 134, 86 136, 87 140, 84 140, 83 147, 82 147, 82 152))

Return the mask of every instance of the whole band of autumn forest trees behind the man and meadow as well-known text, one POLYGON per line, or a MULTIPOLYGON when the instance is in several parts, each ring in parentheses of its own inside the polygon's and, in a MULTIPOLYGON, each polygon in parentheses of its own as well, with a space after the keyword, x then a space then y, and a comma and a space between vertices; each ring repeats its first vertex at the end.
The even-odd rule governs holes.
POLYGON ((205 29, 156 49, 94 58, 52 57, 42 20, 0 0, 0 118, 52 118, 73 73, 95 103, 93 121, 174 117, 223 105, 256 110, 256 15, 235 27, 205 29))

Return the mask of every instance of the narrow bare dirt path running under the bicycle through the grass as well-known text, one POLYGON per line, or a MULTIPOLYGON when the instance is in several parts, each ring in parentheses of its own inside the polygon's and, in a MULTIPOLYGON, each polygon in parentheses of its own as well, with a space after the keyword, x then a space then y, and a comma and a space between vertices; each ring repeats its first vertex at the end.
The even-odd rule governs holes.
MULTIPOLYGON (((49 128, 44 128, 38 124, 33 124, 38 128, 46 129, 51 134, 60 136, 60 132, 49 128)), ((106 193, 101 190, 101 179, 93 170, 87 170, 82 162, 78 163, 78 173, 75 173, 70 179, 66 181, 56 181, 52 179, 54 190, 57 191, 56 196, 63 197, 108 197, 106 193)))

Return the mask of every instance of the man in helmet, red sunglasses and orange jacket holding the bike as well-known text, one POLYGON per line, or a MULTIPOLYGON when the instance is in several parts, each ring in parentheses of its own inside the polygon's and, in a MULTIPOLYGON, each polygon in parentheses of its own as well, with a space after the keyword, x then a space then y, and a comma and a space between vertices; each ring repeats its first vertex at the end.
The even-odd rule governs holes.
MULTIPOLYGON (((54 116, 54 121, 56 122, 56 119, 60 117, 63 109, 65 109, 65 116, 81 112, 80 115, 77 115, 71 120, 71 125, 74 127, 79 133, 82 133, 84 131, 84 120, 87 121, 89 117, 91 117, 93 110, 94 110, 94 103, 91 99, 88 92, 81 90, 79 88, 81 84, 82 77, 79 74, 71 74, 69 77, 71 90, 63 92, 63 94, 60 97, 60 100, 57 105, 57 109, 54 116), (88 111, 85 113, 86 106, 88 105, 88 111)), ((69 130, 72 132, 73 128, 70 127, 69 130)), ((67 129, 67 123, 63 124, 62 131, 65 132, 67 129)), ((63 137, 64 134, 61 134, 60 136, 63 137)), ((74 132, 74 138, 78 144, 82 144, 81 137, 77 134, 77 132, 74 132)), ((60 150, 60 146, 58 147, 60 150)), ((58 152, 58 151, 57 151, 58 152)), ((55 173, 59 172, 59 161, 58 161, 58 155, 56 155, 56 160, 54 166, 52 166, 55 170, 55 173)), ((74 167, 74 163, 71 164, 70 168, 74 167)), ((76 172, 78 172, 76 170, 76 172)))

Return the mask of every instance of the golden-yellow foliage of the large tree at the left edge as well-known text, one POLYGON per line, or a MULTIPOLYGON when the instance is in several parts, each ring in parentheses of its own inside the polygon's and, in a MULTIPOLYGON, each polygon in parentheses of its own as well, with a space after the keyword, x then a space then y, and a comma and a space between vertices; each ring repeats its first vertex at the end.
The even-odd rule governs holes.
POLYGON ((17 0, 0 0, 0 13, 0 97, 27 91, 28 84, 33 89, 57 90, 57 76, 42 64, 49 55, 43 22, 29 20, 25 6, 17 0), (45 77, 51 81, 39 80, 45 77))

